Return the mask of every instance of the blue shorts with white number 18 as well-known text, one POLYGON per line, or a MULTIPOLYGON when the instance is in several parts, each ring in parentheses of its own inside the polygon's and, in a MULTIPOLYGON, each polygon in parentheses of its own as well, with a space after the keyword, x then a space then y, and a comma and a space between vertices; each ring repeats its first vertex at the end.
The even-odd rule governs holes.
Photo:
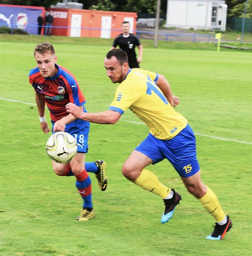
MULTIPOLYGON (((84 112, 86 112, 84 110, 84 112)), ((54 123, 52 122, 52 130, 54 123)), ((70 133, 77 142, 77 152, 78 153, 88 153, 88 133, 89 133, 90 123, 81 119, 76 119, 70 124, 66 124, 65 131, 70 133)), ((54 133, 54 132, 53 132, 54 133)))

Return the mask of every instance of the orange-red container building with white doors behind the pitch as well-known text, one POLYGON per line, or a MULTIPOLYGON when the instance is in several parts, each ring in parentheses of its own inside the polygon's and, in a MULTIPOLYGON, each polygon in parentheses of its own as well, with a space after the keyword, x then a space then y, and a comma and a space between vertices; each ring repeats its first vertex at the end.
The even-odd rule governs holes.
POLYGON ((129 21, 130 32, 136 30, 136 12, 93 11, 82 9, 47 8, 52 11, 52 26, 71 28, 52 28, 51 35, 73 37, 114 38, 121 33, 123 21, 129 21), (118 29, 118 31, 111 31, 118 29))

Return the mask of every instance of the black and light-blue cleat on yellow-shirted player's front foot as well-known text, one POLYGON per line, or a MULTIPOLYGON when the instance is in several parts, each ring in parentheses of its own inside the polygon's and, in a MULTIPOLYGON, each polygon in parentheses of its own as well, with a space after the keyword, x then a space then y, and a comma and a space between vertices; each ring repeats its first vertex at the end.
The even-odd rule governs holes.
POLYGON ((179 201, 182 200, 179 193, 175 192, 175 190, 173 188, 172 188, 172 190, 173 190, 173 197, 171 199, 163 199, 165 209, 164 209, 164 213, 161 217, 161 223, 165 223, 168 220, 172 219, 172 215, 174 214, 175 207, 178 204, 180 204, 179 201))

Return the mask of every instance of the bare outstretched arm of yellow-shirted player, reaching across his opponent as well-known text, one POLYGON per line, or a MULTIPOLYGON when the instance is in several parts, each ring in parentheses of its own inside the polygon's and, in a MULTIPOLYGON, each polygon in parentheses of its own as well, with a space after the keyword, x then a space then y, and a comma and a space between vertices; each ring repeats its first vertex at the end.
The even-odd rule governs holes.
POLYGON ((121 114, 113 110, 106 110, 99 113, 85 113, 73 103, 66 104, 66 112, 74 117, 96 124, 115 124, 120 119, 121 114))

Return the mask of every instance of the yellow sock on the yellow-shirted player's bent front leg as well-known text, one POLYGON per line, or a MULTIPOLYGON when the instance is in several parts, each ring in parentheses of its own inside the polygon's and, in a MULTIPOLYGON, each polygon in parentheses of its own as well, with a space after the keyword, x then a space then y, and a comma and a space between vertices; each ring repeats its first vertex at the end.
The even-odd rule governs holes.
POLYGON ((134 181, 134 183, 145 190, 161 196, 163 199, 171 191, 171 188, 167 188, 162 183, 160 183, 157 176, 146 169, 142 170, 141 174, 134 181))

